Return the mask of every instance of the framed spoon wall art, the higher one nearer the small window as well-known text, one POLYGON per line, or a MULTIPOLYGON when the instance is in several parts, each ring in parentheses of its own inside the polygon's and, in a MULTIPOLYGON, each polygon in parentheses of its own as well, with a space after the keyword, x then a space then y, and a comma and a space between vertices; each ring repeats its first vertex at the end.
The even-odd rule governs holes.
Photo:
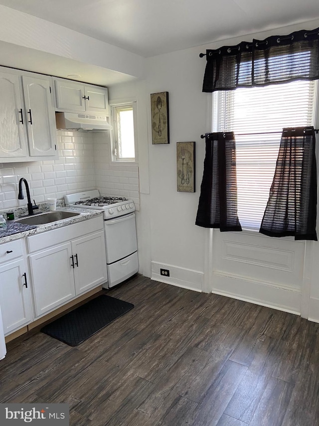
POLYGON ((152 143, 169 143, 168 92, 151 94, 152 143))

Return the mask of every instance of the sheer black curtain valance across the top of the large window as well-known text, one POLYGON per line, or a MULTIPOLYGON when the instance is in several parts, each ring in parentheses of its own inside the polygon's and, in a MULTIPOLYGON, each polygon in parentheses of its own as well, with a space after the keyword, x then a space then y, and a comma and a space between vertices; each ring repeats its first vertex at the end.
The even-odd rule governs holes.
POLYGON ((319 79, 319 28, 206 50, 203 92, 319 79))

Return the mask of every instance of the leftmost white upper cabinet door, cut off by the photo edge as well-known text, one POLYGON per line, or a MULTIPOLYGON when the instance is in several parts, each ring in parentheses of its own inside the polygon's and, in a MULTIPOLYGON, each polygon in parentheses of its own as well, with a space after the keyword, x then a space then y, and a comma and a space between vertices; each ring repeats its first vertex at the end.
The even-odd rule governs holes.
POLYGON ((0 72, 0 158, 25 157, 26 123, 19 76, 0 72))

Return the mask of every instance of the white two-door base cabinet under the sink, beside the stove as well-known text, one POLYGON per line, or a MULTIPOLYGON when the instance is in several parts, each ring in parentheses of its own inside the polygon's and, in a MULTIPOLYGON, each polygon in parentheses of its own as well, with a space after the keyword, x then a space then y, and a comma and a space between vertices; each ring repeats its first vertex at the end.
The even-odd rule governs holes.
POLYGON ((27 238, 36 318, 107 281, 102 229, 98 217, 27 238))

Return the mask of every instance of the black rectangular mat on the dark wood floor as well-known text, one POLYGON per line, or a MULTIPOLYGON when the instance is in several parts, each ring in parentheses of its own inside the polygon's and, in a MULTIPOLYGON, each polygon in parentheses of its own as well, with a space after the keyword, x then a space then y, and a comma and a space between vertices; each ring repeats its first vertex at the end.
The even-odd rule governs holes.
POLYGON ((41 332, 77 346, 132 308, 132 303, 101 295, 47 324, 41 332))

